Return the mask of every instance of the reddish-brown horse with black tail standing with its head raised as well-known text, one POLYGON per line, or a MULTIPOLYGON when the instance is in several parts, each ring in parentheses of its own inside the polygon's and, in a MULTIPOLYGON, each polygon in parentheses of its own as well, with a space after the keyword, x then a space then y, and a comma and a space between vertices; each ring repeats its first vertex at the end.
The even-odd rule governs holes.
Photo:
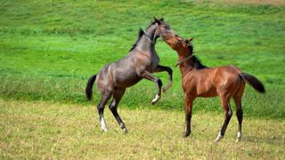
POLYGON ((224 137, 224 132, 232 117, 230 100, 233 98, 237 108, 239 129, 236 142, 241 140, 242 107, 241 98, 246 82, 257 92, 265 92, 264 85, 252 75, 249 75, 235 66, 222 66, 208 68, 202 65, 194 55, 191 39, 183 40, 179 36, 165 39, 178 53, 178 62, 183 81, 183 92, 185 93, 185 137, 191 133, 191 112, 193 100, 197 97, 219 96, 224 108, 224 124, 216 137, 215 142, 224 137))

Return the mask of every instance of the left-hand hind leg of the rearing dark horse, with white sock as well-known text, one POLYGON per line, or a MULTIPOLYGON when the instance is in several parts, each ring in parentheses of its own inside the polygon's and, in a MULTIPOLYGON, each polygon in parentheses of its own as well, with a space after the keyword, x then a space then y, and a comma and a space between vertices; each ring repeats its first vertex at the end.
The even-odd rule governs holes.
POLYGON ((97 106, 99 116, 100 116, 101 128, 103 132, 107 132, 107 127, 106 127, 106 123, 104 119, 104 108, 108 100, 110 100, 110 92, 103 92, 102 98, 97 106))

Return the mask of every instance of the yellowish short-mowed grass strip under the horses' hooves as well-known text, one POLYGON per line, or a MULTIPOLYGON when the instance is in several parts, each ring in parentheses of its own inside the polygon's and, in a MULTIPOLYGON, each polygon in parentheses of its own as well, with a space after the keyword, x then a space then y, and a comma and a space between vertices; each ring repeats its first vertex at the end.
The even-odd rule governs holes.
POLYGON ((104 133, 94 106, 0 100, 0 158, 285 158, 284 121, 245 116, 243 139, 235 143, 237 119, 232 116, 224 140, 215 144, 222 112, 195 112, 187 140, 183 110, 119 108, 119 113, 128 134, 108 108, 109 131, 104 133))

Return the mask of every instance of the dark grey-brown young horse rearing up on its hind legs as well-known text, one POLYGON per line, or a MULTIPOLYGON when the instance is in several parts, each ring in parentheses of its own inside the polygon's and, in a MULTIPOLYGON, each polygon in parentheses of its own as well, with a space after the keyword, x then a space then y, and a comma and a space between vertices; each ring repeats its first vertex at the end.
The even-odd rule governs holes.
POLYGON ((171 86, 172 69, 159 65, 159 57, 154 47, 157 38, 162 37, 164 39, 169 36, 176 36, 175 32, 170 29, 169 25, 163 19, 158 20, 154 18, 154 21, 146 28, 145 32, 140 29, 136 43, 124 59, 106 65, 98 74, 89 78, 85 89, 87 99, 92 99, 92 88, 95 81, 102 95, 97 106, 102 131, 107 132, 103 111, 111 97, 112 100, 109 108, 120 128, 124 132, 127 132, 126 126, 120 116, 118 116, 117 111, 118 103, 124 95, 126 88, 138 83, 142 79, 154 82, 158 86, 158 92, 151 102, 155 104, 160 99, 162 82, 158 77, 152 76, 151 73, 167 71, 169 78, 167 86, 163 88, 163 92, 166 92, 171 86))

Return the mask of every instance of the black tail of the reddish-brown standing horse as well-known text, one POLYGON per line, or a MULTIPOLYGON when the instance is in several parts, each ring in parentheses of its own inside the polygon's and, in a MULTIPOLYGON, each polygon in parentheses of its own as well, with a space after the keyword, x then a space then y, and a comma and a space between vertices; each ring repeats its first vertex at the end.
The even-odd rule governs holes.
POLYGON ((240 76, 250 84, 257 92, 265 93, 265 86, 255 76, 247 73, 240 73, 240 76))

